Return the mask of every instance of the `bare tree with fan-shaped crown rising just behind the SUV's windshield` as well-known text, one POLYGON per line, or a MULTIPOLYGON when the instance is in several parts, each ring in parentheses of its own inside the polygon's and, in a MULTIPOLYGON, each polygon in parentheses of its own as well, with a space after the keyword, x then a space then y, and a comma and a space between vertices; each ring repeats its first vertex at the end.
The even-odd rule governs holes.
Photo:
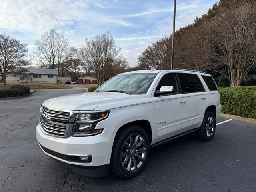
POLYGON ((99 86, 104 81, 106 72, 116 60, 120 50, 121 48, 116 46, 110 32, 97 35, 90 40, 86 39, 85 45, 80 48, 84 68, 89 68, 96 73, 99 86))

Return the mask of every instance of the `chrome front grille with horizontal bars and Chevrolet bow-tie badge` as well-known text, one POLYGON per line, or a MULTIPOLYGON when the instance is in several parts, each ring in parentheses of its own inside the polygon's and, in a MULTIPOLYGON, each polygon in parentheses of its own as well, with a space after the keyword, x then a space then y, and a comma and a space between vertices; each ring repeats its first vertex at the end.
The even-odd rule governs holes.
POLYGON ((42 129, 52 136, 68 137, 71 135, 76 112, 54 110, 41 107, 40 124, 42 129))

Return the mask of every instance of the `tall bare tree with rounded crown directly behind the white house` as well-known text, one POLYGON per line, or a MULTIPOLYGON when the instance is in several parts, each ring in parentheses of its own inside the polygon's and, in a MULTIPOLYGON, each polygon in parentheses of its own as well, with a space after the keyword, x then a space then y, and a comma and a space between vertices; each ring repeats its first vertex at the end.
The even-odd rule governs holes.
POLYGON ((68 60, 70 54, 69 40, 55 29, 51 29, 42 34, 35 46, 36 61, 44 68, 57 68, 60 73, 61 66, 68 60))

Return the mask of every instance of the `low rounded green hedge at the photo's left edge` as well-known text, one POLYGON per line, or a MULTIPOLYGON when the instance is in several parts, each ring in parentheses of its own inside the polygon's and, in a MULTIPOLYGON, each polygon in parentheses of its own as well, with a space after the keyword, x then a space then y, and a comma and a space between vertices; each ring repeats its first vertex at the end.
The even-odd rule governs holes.
POLYGON ((0 90, 0 98, 22 96, 29 92, 30 88, 28 86, 14 85, 11 86, 10 89, 0 90))

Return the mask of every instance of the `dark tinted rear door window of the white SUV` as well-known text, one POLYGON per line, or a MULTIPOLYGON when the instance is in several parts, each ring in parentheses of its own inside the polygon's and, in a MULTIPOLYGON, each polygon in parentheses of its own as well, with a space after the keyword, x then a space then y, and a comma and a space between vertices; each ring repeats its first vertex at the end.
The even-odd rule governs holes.
POLYGON ((194 74, 180 73, 179 76, 181 81, 182 92, 198 92, 194 74))

